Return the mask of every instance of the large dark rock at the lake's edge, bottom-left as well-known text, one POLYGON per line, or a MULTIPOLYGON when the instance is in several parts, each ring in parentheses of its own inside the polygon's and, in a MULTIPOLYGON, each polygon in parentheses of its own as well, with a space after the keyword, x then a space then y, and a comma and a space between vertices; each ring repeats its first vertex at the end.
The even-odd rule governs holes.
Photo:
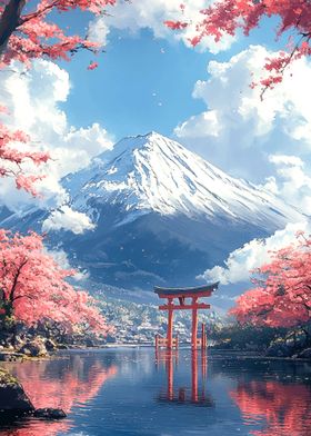
POLYGON ((0 369, 0 412, 14 413, 16 415, 34 412, 34 407, 21 384, 3 369, 0 369))

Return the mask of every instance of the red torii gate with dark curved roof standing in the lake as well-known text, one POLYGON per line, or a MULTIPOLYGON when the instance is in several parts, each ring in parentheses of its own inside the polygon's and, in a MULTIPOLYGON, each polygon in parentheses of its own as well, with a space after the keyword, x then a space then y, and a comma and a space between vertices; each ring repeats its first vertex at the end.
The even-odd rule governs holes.
POLYGON ((197 349, 207 347, 207 334, 205 326, 202 325, 202 337, 198 338, 198 310, 209 309, 211 306, 207 303, 200 303, 199 298, 210 297, 211 294, 218 289, 219 283, 212 285, 204 285, 194 288, 161 288, 154 287, 154 293, 160 298, 167 298, 167 304, 159 306, 160 310, 168 310, 168 331, 165 338, 160 338, 156 335, 156 348, 167 347, 168 349, 178 348, 178 337, 173 337, 173 311, 174 310, 192 310, 192 335, 191 335, 191 347, 197 349), (179 304, 174 304, 174 299, 179 300, 179 304), (190 298, 191 301, 185 301, 190 298))

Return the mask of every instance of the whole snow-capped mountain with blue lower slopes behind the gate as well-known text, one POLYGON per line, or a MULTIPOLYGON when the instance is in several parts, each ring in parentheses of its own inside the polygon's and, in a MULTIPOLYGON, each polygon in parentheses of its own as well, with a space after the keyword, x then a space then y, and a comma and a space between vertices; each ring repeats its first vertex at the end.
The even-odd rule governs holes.
MULTIPOLYGON (((232 250, 303 217, 157 132, 122 139, 62 185, 94 229, 50 231, 51 246, 93 281, 128 289, 198 285, 195 276, 232 250)), ((1 225, 40 230, 48 215, 32 209, 1 225)))

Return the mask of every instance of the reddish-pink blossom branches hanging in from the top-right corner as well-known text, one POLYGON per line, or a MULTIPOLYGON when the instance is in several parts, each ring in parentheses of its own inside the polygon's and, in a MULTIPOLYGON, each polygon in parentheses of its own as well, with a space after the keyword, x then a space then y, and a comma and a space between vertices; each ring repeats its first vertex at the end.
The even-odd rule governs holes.
MULTIPOLYGON (((267 59, 268 77, 261 79, 264 90, 282 81, 285 68, 297 59, 311 53, 311 2, 309 0, 218 0, 200 10, 201 20, 195 22, 195 36, 190 40, 194 47, 203 38, 212 36, 218 42, 223 36, 235 36, 241 29, 245 36, 259 27, 262 18, 277 17, 277 38, 289 36, 288 46, 275 58, 267 59)), ((174 30, 193 26, 187 19, 187 2, 181 4, 182 19, 167 21, 174 30)), ((255 83, 253 83, 255 85, 255 83)))

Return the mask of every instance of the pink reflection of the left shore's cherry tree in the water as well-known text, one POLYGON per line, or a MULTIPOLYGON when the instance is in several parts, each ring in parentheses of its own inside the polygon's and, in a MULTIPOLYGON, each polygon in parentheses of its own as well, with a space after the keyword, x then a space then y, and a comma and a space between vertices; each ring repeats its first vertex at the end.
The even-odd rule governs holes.
MULTIPOLYGON (((117 367, 103 367, 102 363, 79 356, 69 359, 26 361, 12 366, 12 373, 22 384, 36 408, 62 408, 70 413, 72 407, 82 407, 94 398, 102 385, 117 374, 117 367), (58 368, 58 370, 56 370, 58 368)), ((6 436, 53 436, 71 427, 70 420, 30 420, 26 427, 1 432, 6 436)))

